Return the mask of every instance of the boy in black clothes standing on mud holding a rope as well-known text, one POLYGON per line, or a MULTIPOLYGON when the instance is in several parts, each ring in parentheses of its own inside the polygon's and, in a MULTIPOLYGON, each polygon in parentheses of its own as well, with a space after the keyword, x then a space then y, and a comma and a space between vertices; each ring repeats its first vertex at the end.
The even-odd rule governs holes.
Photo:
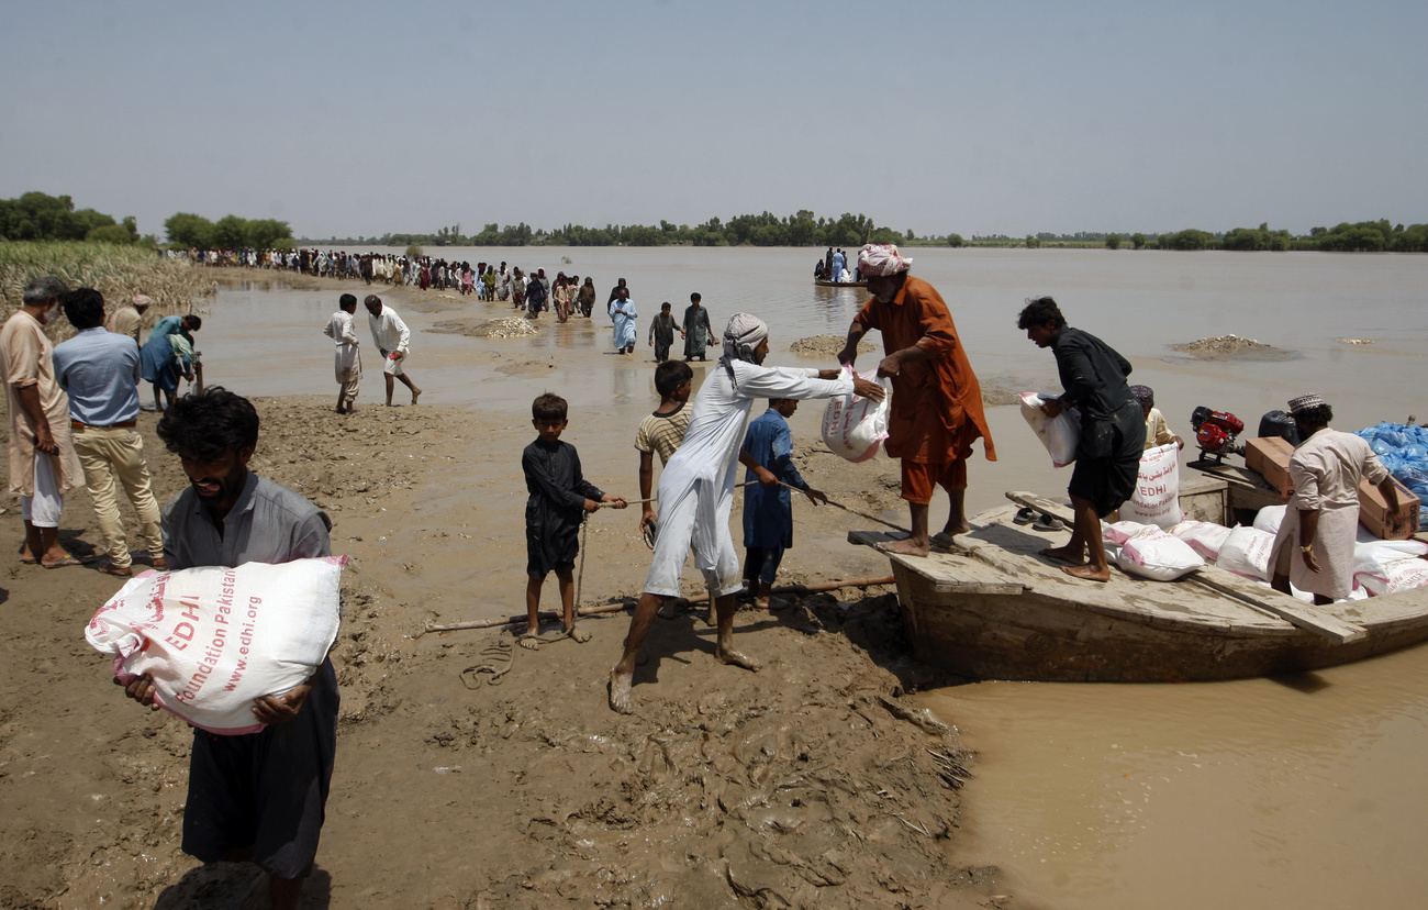
POLYGON ((564 634, 588 641, 590 633, 575 629, 575 554, 580 549, 583 513, 595 511, 600 503, 624 509, 621 496, 601 493, 580 473, 580 456, 560 434, 570 424, 568 406, 558 394, 545 393, 531 403, 531 424, 538 434, 521 453, 526 471, 526 634, 521 647, 536 650, 540 643, 540 589, 553 570, 560 583, 564 610, 564 634))

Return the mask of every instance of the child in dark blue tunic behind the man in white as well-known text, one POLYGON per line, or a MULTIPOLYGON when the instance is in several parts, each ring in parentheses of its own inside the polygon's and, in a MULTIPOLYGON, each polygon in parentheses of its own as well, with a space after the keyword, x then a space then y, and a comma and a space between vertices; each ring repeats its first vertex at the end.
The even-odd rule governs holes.
MULTIPOLYGON (((748 551, 744 560, 744 586, 754 593, 754 606, 760 610, 785 606, 771 597, 784 550, 794 546, 793 500, 788 487, 783 484, 803 490, 814 504, 828 501, 794 467, 794 437, 788 431, 788 417, 797 410, 798 401, 794 399, 770 399, 768 410, 755 417, 744 434, 744 454, 781 481, 778 486, 760 483, 744 487, 744 549, 748 551)), ((753 466, 744 459, 741 461, 750 467, 745 480, 757 480, 753 466)))

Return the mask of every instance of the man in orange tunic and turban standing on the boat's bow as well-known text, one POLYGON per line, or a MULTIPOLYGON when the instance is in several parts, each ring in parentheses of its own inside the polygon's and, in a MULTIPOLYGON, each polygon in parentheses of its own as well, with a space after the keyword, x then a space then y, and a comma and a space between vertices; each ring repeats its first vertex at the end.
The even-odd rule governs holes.
POLYGON ((912 513, 912 536, 883 544, 890 553, 927 556, 931 544, 948 546, 967 524, 967 459, 977 439, 987 460, 997 449, 982 411, 981 386, 967 360, 947 303, 931 284, 908 274, 912 260, 892 244, 870 243, 858 253, 858 269, 873 299, 853 319, 841 363, 858 356, 868 329, 883 331, 885 356, 878 376, 892 377, 887 453, 902 461, 902 499, 912 513), (935 487, 947 490, 947 524, 928 537, 928 510, 935 487))

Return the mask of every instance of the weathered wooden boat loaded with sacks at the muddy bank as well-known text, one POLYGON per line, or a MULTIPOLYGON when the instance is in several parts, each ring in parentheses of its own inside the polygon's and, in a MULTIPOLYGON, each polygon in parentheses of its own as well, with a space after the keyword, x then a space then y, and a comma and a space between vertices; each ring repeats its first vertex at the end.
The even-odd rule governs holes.
MULTIPOLYGON (((1070 519, 1028 493, 1014 503, 1070 519)), ((1207 566, 1178 581, 1111 570, 1080 581, 1038 556, 1070 531, 977 516, 955 551, 890 554, 902 623, 922 663, 968 679, 1064 683, 1227 680, 1332 667, 1428 639, 1428 589, 1317 607, 1207 566)), ((853 531, 851 543, 888 540, 853 531)))

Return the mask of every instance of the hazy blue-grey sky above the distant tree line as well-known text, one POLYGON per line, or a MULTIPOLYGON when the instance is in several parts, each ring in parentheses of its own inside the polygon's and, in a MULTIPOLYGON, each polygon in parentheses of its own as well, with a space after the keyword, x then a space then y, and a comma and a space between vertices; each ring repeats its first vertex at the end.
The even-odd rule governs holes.
POLYGON ((298 237, 1428 223, 1422 0, 0 6, 0 199, 298 237))

